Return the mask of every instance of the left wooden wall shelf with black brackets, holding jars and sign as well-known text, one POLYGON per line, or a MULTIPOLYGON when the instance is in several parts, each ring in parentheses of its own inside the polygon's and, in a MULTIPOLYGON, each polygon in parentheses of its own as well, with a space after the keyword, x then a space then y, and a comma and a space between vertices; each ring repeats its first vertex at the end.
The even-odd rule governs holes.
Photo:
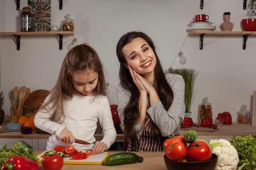
POLYGON ((62 50, 63 35, 74 35, 72 31, 44 31, 44 32, 0 32, 0 36, 15 36, 17 50, 20 50, 20 36, 59 36, 59 49, 62 50))

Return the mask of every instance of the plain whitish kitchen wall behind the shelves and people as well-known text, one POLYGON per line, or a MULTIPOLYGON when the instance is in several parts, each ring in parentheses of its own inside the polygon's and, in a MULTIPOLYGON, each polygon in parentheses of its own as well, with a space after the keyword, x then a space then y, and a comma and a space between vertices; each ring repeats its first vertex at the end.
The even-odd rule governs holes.
MULTIPOLYGON (((58 5, 58 0, 52 0, 52 25, 59 26, 67 13, 75 22, 75 35, 63 37, 63 50, 58 49, 58 36, 22 36, 19 51, 14 37, 0 36, 0 77, 6 115, 13 105, 14 86, 27 86, 31 91, 52 89, 67 53, 66 46, 73 38, 79 44, 89 43, 99 53, 106 81, 110 83, 110 104, 117 104, 119 62, 115 48, 121 35, 133 30, 144 31, 154 40, 164 69, 172 66, 199 71, 192 106, 195 121, 204 97, 209 97, 212 103, 213 117, 229 111, 236 121, 236 113, 243 104, 252 111, 256 36, 249 36, 246 50, 242 49, 242 36, 205 35, 203 50, 199 49, 199 36, 186 38, 189 22, 201 13, 209 15, 209 21, 220 31, 223 13, 231 12, 233 31, 241 31, 240 21, 248 18, 242 1, 204 0, 202 10, 200 0, 63 0, 62 10, 58 5), (188 58, 185 65, 180 65, 177 57, 181 48, 188 58)), ((20 9, 25 6, 27 0, 20 0, 20 9)), ((21 11, 16 11, 15 1, 0 0, 0 32, 20 31, 21 11)))

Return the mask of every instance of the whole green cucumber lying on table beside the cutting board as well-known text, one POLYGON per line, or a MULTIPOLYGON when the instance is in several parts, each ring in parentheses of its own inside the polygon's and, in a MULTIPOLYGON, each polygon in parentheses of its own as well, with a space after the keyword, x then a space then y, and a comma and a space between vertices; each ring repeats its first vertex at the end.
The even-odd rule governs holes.
POLYGON ((115 165, 124 165, 129 163, 140 163, 143 161, 143 157, 136 155, 135 153, 131 152, 121 152, 115 153, 113 155, 108 156, 104 164, 108 166, 115 166, 115 165))

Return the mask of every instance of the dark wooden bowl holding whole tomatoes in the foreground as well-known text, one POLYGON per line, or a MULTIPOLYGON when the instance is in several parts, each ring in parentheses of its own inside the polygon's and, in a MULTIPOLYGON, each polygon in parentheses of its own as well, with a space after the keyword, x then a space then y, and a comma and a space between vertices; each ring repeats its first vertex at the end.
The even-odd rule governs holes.
POLYGON ((171 161, 164 155, 167 170, 215 170, 217 162, 218 156, 214 153, 209 161, 200 162, 171 161))

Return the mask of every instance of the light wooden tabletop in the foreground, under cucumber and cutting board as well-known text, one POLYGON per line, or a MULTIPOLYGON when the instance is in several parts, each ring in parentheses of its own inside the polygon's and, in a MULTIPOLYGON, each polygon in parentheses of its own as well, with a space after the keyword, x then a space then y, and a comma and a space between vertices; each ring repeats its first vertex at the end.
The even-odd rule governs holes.
MULTIPOLYGON (((38 155, 43 151, 35 151, 38 155)), ((112 155, 117 152, 109 152, 112 155)), ((104 166, 104 165, 68 165, 64 164, 61 170, 167 170, 164 163, 164 152, 133 152, 140 157, 143 157, 142 163, 132 163, 119 166, 104 166)), ((42 164, 39 165, 39 170, 44 170, 42 164)))

